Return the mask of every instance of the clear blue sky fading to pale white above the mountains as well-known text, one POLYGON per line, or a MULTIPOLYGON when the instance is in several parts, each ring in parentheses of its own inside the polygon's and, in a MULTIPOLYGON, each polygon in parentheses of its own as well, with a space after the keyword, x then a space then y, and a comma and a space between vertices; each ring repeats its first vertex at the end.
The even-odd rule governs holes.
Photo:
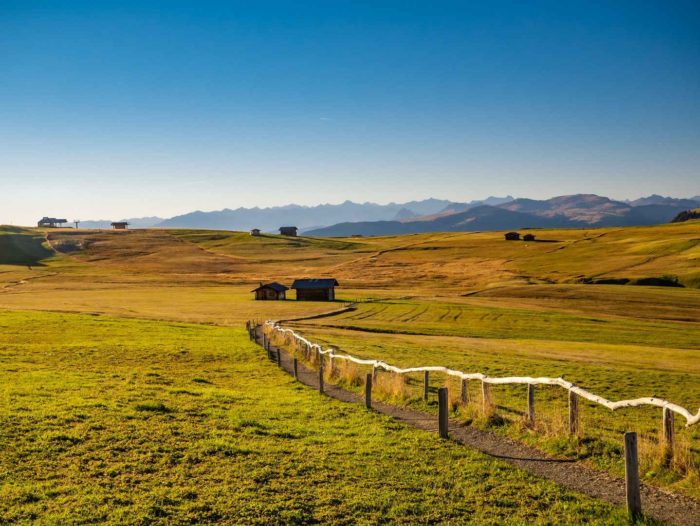
POLYGON ((694 2, 249 4, 3 1, 0 223, 700 194, 694 2))

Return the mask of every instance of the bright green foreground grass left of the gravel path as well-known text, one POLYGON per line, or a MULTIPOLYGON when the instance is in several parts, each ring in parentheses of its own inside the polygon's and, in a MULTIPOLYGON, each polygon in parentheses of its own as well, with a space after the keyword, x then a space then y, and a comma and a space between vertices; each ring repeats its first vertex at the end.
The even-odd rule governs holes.
POLYGON ((3 524, 628 522, 319 395, 239 329, 3 311, 0 338, 3 524))

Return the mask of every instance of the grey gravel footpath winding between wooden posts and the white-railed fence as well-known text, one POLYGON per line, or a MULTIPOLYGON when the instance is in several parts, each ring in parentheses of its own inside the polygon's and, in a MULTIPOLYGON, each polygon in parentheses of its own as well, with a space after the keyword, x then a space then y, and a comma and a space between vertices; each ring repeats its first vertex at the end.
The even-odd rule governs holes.
MULTIPOLYGON (((255 341, 262 345, 260 327, 255 329, 255 335, 255 341)), ((286 349, 275 345, 272 345, 271 349, 273 359, 276 361, 279 352, 282 368, 293 374, 293 359, 286 349)), ((304 385, 318 389, 318 373, 309 370, 300 361, 297 365, 297 375, 304 385)), ((364 396, 342 389, 325 380, 323 391, 339 401, 365 403, 364 396)), ((374 400, 372 408, 416 429, 437 430, 437 415, 374 400)), ((624 480, 605 471, 591 468, 575 460, 553 457, 530 445, 497 435, 491 431, 467 426, 454 419, 449 420, 449 436, 470 448, 542 478, 553 480, 570 490, 615 504, 615 506, 626 505, 624 480)), ((645 484, 641 486, 641 492, 642 509, 647 515, 658 520, 666 520, 676 526, 700 526, 699 500, 645 484)))

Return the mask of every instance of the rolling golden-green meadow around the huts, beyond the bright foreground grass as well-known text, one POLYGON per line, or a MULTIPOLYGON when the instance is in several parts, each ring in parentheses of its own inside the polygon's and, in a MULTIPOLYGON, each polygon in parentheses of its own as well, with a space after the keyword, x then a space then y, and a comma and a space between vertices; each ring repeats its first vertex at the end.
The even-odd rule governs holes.
MULTIPOLYGON (((608 399, 657 396, 695 411, 700 221, 528 231, 535 242, 507 242, 498 232, 294 238, 2 226, 0 309, 186 322, 214 331, 240 328, 246 319, 303 317, 334 310, 344 300, 381 296, 381 302, 289 326, 324 346, 398 366, 566 375, 608 399), (337 278, 337 300, 297 303, 293 291, 286 301, 253 300, 251 290, 260 282, 289 286, 308 277, 337 278)), ((85 327, 90 335, 97 326, 85 327)), ((346 371, 346 385, 358 389, 362 372, 346 371)), ((446 380, 434 375, 431 381, 434 390, 446 380)), ((436 409, 417 398, 420 378, 381 382, 387 399, 436 409)), ((617 474, 622 432, 635 429, 643 480, 700 495, 700 428, 683 428, 680 417, 670 460, 659 446, 658 408, 611 413, 584 403, 582 434, 570 438, 563 433, 561 389, 538 387, 535 426, 522 419, 524 387, 492 387, 495 420, 479 412, 477 386, 470 389, 468 404, 453 396, 454 415, 484 427, 496 422, 499 433, 617 474)))

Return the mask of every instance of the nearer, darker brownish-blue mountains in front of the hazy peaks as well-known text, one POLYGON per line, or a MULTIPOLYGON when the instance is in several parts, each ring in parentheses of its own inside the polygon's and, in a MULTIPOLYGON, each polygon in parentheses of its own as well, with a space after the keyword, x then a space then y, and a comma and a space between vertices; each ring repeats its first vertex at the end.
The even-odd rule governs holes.
MULTIPOLYGON (((654 200, 660 196, 645 198, 654 200)), ((699 196, 696 196, 699 197, 699 196)), ((309 230, 308 236, 396 235, 426 232, 472 232, 519 228, 577 228, 641 226, 668 223, 682 209, 700 206, 699 200, 660 198, 660 204, 632 205, 594 194, 561 195, 548 200, 514 199, 496 205, 454 210, 451 203, 438 214, 399 221, 339 223, 309 230)), ((638 200, 643 202, 644 200, 638 200)), ((455 206, 456 205, 456 206, 455 206)))

